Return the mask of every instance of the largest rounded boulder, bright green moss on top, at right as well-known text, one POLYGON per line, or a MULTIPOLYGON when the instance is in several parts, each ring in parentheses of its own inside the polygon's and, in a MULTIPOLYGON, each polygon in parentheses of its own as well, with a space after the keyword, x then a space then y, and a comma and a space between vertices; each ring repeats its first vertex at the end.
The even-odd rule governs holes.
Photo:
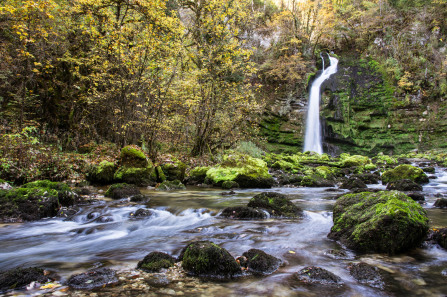
POLYGON ((425 210, 397 191, 346 194, 335 203, 333 221, 328 237, 360 252, 404 252, 428 232, 425 210))

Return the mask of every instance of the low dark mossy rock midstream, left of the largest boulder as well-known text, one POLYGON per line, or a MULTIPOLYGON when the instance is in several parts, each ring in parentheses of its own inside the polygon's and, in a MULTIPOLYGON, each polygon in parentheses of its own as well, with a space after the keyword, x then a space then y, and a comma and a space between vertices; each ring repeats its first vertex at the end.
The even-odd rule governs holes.
POLYGON ((248 207, 261 208, 272 216, 295 218, 303 215, 303 211, 280 193, 265 192, 255 195, 247 204, 248 207))

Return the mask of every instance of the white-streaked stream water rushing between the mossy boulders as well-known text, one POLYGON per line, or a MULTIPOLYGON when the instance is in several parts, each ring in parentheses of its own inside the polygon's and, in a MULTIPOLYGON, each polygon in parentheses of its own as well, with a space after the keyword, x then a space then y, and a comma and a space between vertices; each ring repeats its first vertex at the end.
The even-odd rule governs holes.
MULTIPOLYGON (((424 186, 432 226, 447 226, 447 212, 432 207, 438 193, 447 190, 447 173, 424 186)), ((383 188, 381 185, 371 185, 383 188)), ((341 258, 330 250, 343 250, 326 235, 332 226, 334 197, 343 190, 327 188, 274 188, 269 191, 288 195, 305 211, 300 220, 267 219, 238 221, 221 219, 217 214, 227 206, 246 205, 263 190, 239 190, 222 196, 221 190, 188 188, 185 191, 157 192, 146 204, 98 199, 82 207, 72 219, 51 218, 39 222, 0 227, 1 270, 17 266, 41 266, 57 271, 62 281, 73 273, 108 266, 134 268, 152 251, 177 256, 191 240, 211 240, 233 256, 258 248, 281 258, 285 265, 267 277, 243 277, 216 283, 216 296, 445 296, 447 294, 447 251, 426 245, 406 254, 360 255, 347 251, 341 258), (138 208, 153 215, 135 219, 138 208), (389 286, 374 289, 356 282, 347 269, 352 261, 365 261, 390 272, 389 286), (305 266, 325 268, 340 276, 343 288, 312 289, 291 281, 291 275, 305 266)))

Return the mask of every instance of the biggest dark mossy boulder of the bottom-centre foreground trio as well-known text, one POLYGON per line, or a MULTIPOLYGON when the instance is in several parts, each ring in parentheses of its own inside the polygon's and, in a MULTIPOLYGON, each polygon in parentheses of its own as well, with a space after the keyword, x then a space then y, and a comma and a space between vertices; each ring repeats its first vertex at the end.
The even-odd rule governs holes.
POLYGON ((211 241, 188 244, 180 253, 179 260, 190 275, 225 279, 241 273, 241 267, 233 256, 211 241))

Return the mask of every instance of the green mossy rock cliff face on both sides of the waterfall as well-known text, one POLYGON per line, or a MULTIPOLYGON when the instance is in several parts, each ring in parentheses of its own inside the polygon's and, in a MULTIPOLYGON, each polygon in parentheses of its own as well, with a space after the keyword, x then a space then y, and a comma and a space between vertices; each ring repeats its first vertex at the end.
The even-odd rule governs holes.
MULTIPOLYGON (((398 97, 373 60, 340 57, 338 72, 323 86, 321 119, 325 151, 400 154, 447 147, 447 102, 398 97)), ((268 141, 303 147, 307 95, 277 100, 261 125, 268 141)))

